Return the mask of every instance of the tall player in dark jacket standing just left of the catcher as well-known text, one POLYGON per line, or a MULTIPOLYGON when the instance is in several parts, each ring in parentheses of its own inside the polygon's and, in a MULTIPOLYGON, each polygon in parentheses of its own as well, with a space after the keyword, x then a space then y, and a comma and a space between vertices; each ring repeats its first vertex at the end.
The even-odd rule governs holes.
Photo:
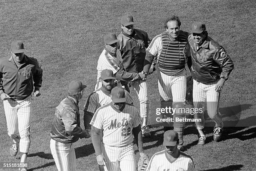
MULTIPOLYGON (((144 73, 143 64, 150 39, 145 31, 135 29, 133 25, 132 15, 127 14, 121 17, 122 32, 117 38, 120 40, 123 68, 130 73, 144 73)), ((142 134, 146 137, 151 136, 147 125, 149 108, 147 82, 146 80, 138 80, 137 82, 130 82, 130 85, 135 89, 140 101, 140 114, 143 118, 142 134)))

